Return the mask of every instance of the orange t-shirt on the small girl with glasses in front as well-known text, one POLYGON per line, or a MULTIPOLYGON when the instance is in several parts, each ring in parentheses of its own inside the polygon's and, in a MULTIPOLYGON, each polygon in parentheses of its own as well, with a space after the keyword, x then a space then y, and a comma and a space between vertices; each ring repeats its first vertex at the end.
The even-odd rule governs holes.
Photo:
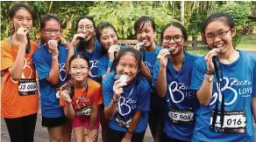
MULTIPOLYGON (((68 81, 72 83, 72 81, 68 81)), ((62 85, 60 87, 60 91, 62 91, 63 86, 66 86, 68 83, 62 85)), ((88 78, 87 80, 88 87, 83 88, 75 88, 75 93, 72 98, 72 105, 74 107, 75 113, 83 115, 82 113, 86 111, 79 111, 82 110, 84 107, 90 107, 91 105, 101 105, 103 104, 103 93, 102 87, 96 81, 88 78)), ((60 92, 61 95, 61 92, 60 92)), ((60 98, 60 105, 66 106, 66 102, 60 98)), ((86 112, 87 113, 87 112, 86 112)), ((85 114, 87 115, 87 114, 85 114)))

